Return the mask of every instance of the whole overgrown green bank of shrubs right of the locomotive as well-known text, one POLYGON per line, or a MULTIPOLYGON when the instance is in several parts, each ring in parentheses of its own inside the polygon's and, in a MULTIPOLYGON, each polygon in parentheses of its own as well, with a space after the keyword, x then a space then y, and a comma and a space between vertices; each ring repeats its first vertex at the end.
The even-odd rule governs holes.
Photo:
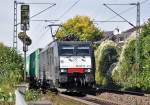
POLYGON ((135 32, 122 49, 112 41, 101 43, 95 54, 97 83, 102 86, 117 86, 121 90, 150 93, 150 19, 141 27, 139 64, 135 59, 135 50, 135 32), (114 68, 113 63, 116 63, 114 68))

